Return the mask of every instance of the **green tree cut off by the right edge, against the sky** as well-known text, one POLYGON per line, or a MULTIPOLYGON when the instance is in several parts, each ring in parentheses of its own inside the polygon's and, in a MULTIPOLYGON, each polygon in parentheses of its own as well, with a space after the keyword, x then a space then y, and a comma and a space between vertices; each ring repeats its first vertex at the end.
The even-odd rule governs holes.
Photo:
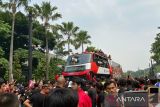
POLYGON ((160 64, 160 33, 155 37, 155 42, 152 43, 151 52, 153 55, 151 58, 156 61, 156 63, 160 64))

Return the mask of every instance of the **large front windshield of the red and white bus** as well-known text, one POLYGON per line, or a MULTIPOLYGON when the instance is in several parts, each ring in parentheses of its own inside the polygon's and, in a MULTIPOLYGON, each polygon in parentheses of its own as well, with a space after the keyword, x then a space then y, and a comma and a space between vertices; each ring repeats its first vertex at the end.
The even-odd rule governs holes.
POLYGON ((91 54, 71 55, 67 59, 67 65, 79 65, 91 62, 91 54))

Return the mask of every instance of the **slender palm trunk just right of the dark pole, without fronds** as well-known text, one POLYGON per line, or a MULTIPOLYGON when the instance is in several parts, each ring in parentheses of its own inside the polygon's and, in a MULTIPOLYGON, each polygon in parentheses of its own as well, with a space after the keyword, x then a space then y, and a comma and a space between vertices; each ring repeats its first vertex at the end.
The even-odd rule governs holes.
POLYGON ((48 80, 49 75, 49 49, 48 49, 48 35, 47 28, 45 27, 45 36, 46 36, 46 80, 48 80))

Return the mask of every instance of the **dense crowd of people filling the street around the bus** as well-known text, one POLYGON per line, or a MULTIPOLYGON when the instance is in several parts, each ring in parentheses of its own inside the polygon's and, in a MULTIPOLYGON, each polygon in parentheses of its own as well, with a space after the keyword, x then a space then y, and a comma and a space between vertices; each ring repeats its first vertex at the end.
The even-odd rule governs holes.
POLYGON ((0 79, 0 107, 160 107, 159 101, 151 103, 152 95, 148 94, 149 87, 156 87, 156 82, 156 79, 129 76, 97 78, 96 81, 79 77, 68 80, 59 76, 53 81, 24 85, 0 79), (148 101, 146 104, 142 102, 142 105, 134 102, 127 105, 124 100, 127 92, 132 93, 130 95, 147 93, 148 101), (123 100, 117 100, 119 98, 123 100))

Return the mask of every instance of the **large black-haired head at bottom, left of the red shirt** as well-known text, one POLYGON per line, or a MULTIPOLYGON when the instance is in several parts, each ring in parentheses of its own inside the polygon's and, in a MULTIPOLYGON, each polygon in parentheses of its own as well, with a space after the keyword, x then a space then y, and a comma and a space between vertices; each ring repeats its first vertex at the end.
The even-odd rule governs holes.
POLYGON ((46 98, 45 107, 78 107, 78 93, 67 88, 56 88, 46 98))

